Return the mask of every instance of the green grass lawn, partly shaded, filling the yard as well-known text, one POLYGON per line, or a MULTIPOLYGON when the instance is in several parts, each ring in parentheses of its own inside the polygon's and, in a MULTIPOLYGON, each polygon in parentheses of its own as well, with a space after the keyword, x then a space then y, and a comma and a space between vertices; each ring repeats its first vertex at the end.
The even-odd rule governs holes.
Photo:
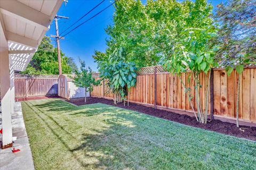
POLYGON ((256 168, 253 141, 104 104, 21 104, 36 169, 256 168))

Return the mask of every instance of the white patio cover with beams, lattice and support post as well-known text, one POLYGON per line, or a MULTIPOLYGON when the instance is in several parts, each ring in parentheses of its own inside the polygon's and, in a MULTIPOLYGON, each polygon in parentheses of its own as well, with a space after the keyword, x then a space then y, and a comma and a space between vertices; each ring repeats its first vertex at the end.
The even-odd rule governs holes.
POLYGON ((0 94, 2 148, 12 147, 14 71, 23 71, 63 0, 0 1, 0 94))

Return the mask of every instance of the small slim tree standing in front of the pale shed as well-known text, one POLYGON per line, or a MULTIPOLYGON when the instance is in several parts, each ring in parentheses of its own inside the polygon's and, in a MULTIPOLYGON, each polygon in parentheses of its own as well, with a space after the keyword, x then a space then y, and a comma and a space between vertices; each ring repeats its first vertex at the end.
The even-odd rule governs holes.
POLYGON ((93 90, 93 86, 98 86, 100 84, 100 80, 95 81, 95 78, 92 77, 92 70, 90 67, 88 69, 85 67, 85 62, 79 59, 81 64, 80 69, 75 70, 75 77, 73 78, 73 82, 77 87, 85 88, 85 98, 84 102, 86 103, 86 93, 88 91, 93 90))

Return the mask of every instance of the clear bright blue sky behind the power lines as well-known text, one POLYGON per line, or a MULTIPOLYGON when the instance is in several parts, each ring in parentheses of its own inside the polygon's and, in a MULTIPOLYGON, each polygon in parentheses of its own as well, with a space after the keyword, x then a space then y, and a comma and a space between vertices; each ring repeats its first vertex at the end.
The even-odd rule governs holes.
MULTIPOLYGON (((58 15, 68 16, 69 19, 60 19, 59 32, 61 33, 69 25, 76 22, 81 16, 90 11, 95 5, 99 4, 102 0, 69 0, 67 5, 62 4, 58 15)), ((110 0, 103 2, 89 15, 85 16, 79 23, 89 19, 94 14, 98 13, 100 10, 111 4, 110 0)), ((142 2, 146 2, 143 0, 142 2)), ((216 5, 221 2, 221 0, 208 0, 212 3, 214 9, 216 5)), ((214 10, 213 9, 213 10, 214 10)), ((105 32, 105 28, 108 24, 113 24, 112 15, 114 13, 114 7, 111 6, 107 10, 100 13, 98 16, 86 22, 81 27, 77 28, 75 31, 69 33, 65 36, 64 40, 60 40, 60 48, 67 56, 73 57, 78 64, 78 57, 82 58, 86 62, 87 66, 90 66, 93 71, 97 71, 97 64, 94 63, 92 55, 94 50, 99 50, 105 52, 106 49, 106 38, 108 35, 105 32)), ((74 27, 73 27, 74 28, 74 27)), ((68 32, 68 31, 67 31, 68 32)), ((46 32, 47 36, 55 35, 55 23, 52 22, 50 30, 46 32)), ((63 33, 64 35, 64 33, 63 33)), ((55 41, 52 38, 52 44, 55 46, 55 41)))

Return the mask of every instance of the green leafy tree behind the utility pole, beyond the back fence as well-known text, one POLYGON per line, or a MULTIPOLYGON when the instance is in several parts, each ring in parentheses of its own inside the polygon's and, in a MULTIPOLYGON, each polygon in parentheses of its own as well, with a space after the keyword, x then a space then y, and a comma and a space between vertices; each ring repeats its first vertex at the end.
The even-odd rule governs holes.
MULTIPOLYGON (((63 74, 70 74, 76 69, 73 58, 61 52, 61 67, 63 74)), ((59 74, 57 48, 53 48, 50 37, 45 36, 38 46, 24 74, 59 74)))

